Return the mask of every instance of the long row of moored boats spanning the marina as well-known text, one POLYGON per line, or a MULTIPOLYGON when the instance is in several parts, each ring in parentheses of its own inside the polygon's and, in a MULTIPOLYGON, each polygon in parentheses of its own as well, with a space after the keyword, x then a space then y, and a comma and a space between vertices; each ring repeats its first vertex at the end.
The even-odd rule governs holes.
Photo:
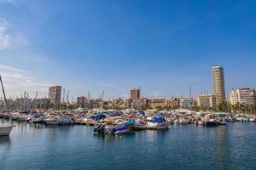
MULTIPOLYGON (((1 112, 1 111, 0 111, 1 112)), ((0 113, 0 118, 11 117, 16 122, 70 125, 73 123, 96 126, 95 133, 123 134, 134 130, 168 129, 171 124, 216 127, 227 122, 256 122, 255 116, 231 113, 193 111, 13 111, 0 113), (128 124, 127 123, 131 123, 128 124)))

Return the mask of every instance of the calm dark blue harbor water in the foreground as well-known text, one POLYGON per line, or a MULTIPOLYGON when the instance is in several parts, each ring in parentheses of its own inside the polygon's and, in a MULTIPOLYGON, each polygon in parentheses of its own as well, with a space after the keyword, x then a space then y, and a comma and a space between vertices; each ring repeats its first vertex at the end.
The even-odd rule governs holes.
POLYGON ((172 126, 123 136, 93 127, 16 123, 0 137, 0 169, 255 169, 256 123, 172 126))

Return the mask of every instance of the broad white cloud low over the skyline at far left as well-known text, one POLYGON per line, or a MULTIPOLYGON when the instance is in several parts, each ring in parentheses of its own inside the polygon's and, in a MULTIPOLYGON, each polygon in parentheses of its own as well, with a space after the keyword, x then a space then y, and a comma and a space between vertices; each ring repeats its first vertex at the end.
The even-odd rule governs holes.
POLYGON ((20 96, 25 91, 29 94, 35 94, 38 91, 44 97, 44 95, 47 95, 48 87, 51 85, 38 81, 36 77, 33 77, 27 71, 9 65, 0 64, 0 74, 8 96, 20 96))

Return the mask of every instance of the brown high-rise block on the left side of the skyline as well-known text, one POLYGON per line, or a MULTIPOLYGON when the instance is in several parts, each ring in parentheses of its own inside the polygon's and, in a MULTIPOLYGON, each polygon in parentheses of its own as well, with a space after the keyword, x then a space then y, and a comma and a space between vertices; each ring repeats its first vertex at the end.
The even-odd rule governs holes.
POLYGON ((55 108, 60 108, 61 105, 61 86, 49 87, 49 102, 55 108))

